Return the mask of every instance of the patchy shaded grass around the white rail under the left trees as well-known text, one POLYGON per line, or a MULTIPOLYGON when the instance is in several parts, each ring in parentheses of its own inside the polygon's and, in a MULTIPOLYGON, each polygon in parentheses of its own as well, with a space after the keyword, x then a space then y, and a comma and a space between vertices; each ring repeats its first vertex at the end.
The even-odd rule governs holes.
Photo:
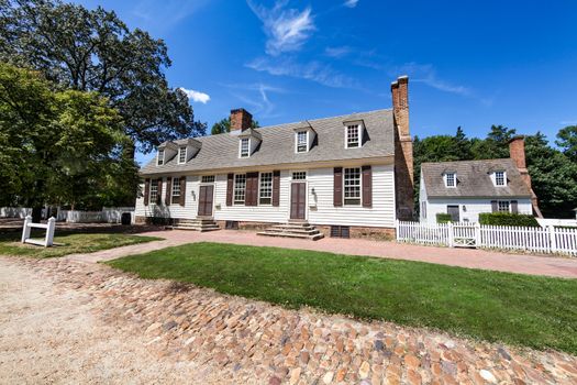
MULTIPOLYGON (((70 233, 56 232, 54 246, 42 248, 33 244, 20 243, 20 232, 0 234, 0 255, 24 255, 37 258, 63 256, 74 253, 92 253, 99 250, 125 246, 129 244, 159 240, 155 237, 141 237, 123 233, 70 233)), ((32 237, 43 238, 44 232, 33 233, 32 237)))

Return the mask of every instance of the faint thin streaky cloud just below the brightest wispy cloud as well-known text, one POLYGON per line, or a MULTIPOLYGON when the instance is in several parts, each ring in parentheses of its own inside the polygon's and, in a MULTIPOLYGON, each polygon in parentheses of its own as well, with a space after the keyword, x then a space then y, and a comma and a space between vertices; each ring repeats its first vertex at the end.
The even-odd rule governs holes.
POLYGON ((354 79, 334 70, 331 66, 319 62, 299 64, 290 58, 269 59, 260 57, 246 64, 246 66, 275 76, 290 76, 312 80, 328 87, 356 87, 356 81, 354 79))

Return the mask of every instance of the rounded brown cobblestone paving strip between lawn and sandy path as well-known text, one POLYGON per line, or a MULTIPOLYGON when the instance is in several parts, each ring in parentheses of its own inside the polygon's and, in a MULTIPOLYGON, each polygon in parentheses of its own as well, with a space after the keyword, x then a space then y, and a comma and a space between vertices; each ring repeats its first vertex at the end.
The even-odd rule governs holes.
POLYGON ((577 358, 565 353, 288 310, 66 258, 0 262, 82 293, 100 322, 143 336, 158 360, 203 365, 219 383, 577 383, 577 358))

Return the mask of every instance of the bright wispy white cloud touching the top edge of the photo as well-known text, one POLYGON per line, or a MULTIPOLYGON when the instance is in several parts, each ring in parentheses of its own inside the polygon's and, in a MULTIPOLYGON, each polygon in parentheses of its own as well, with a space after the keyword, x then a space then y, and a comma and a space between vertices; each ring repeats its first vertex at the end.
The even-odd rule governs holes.
POLYGON ((278 56, 285 52, 300 50, 315 29, 310 8, 302 11, 285 9, 287 1, 276 1, 271 9, 255 4, 251 0, 247 3, 264 24, 268 37, 266 52, 269 55, 278 56))

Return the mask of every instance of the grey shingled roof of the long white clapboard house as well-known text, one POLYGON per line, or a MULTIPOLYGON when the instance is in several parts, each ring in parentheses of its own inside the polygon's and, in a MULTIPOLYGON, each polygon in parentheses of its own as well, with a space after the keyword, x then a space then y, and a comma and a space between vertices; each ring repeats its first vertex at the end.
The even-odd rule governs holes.
MULTIPOLYGON (((238 157, 240 131, 233 131, 195 138, 202 143, 202 146, 198 154, 187 163, 177 164, 177 158, 174 156, 165 160, 164 165, 157 166, 156 158, 153 158, 141 168, 141 174, 202 172, 395 155, 395 127, 391 109, 271 125, 254 131, 262 136, 262 142, 249 157, 238 157), (348 121, 362 121, 365 127, 364 144, 359 148, 345 148, 344 123, 348 121), (296 153, 295 130, 310 128, 317 132, 312 147, 309 152, 296 153)), ((177 145, 186 145, 187 140, 174 142, 177 145)))

